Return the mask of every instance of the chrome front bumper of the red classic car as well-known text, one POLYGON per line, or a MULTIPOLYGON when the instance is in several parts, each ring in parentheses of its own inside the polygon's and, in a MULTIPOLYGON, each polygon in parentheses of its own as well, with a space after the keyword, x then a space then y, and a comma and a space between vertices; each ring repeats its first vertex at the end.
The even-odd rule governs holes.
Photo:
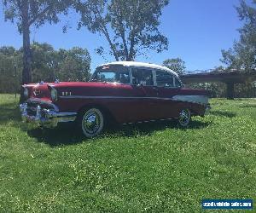
POLYGON ((58 123, 73 122, 77 118, 77 112, 57 112, 55 110, 42 108, 39 104, 34 111, 35 115, 30 115, 28 113, 27 103, 20 104, 23 122, 54 128, 58 123))

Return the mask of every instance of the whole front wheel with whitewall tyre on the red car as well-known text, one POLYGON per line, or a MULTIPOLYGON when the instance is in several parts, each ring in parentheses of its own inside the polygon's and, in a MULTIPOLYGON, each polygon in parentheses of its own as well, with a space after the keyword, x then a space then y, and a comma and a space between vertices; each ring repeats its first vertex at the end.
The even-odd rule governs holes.
POLYGON ((86 137, 95 137, 102 133, 104 116, 101 110, 90 108, 85 110, 81 116, 80 124, 86 137))

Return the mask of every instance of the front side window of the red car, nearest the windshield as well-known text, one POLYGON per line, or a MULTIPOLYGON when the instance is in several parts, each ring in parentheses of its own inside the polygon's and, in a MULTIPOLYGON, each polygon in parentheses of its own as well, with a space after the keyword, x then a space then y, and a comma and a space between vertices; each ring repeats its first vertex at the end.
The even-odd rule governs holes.
POLYGON ((153 74, 151 70, 147 69, 131 69, 132 73, 132 84, 143 83, 145 86, 153 86, 153 74))

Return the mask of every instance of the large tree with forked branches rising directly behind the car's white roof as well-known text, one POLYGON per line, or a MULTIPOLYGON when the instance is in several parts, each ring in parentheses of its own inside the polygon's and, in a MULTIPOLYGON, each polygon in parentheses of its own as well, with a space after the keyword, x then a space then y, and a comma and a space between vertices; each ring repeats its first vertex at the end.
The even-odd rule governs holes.
MULTIPOLYGON (((158 27, 162 9, 168 0, 80 0, 76 9, 81 15, 79 29, 105 37, 115 60, 134 60, 148 49, 161 52, 168 41, 158 27)), ((102 54, 100 47, 96 52, 102 54)))

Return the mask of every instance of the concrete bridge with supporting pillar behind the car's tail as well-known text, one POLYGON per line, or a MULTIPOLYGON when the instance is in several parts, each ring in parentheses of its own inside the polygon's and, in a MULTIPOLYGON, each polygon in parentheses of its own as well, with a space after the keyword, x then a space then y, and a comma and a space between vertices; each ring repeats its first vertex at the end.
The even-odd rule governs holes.
POLYGON ((227 99, 234 99, 235 83, 245 83, 256 81, 256 70, 239 71, 212 71, 199 73, 186 73, 180 76, 183 83, 211 83, 222 82, 227 85, 227 99))

